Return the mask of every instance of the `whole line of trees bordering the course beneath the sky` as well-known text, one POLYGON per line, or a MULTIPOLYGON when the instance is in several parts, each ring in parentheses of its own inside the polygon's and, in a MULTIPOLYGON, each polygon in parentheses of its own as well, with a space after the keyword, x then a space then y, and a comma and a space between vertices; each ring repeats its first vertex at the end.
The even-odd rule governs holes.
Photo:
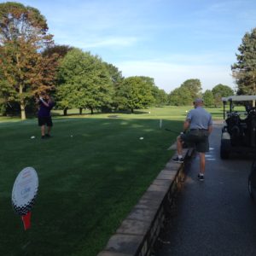
MULTIPOLYGON (((38 9, 21 3, 0 3, 0 113, 35 112, 35 96, 50 92, 56 108, 117 111, 161 105, 187 105, 203 96, 206 105, 218 106, 222 96, 233 94, 224 84, 201 92, 201 81, 189 79, 170 94, 160 90, 154 79, 124 78, 118 67, 67 45, 56 45, 47 21, 38 9)), ((255 94, 255 29, 247 33, 231 69, 239 94, 255 94)))

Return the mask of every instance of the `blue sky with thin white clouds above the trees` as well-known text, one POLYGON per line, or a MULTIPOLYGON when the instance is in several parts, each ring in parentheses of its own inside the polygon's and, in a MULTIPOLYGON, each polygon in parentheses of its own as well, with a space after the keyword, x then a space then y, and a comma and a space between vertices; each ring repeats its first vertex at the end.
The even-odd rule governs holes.
MULTIPOLYGON (((0 0, 0 3, 7 1, 0 0)), ((20 0, 47 20, 55 44, 98 55, 124 77, 167 93, 187 79, 236 89, 231 65, 256 27, 255 0, 20 0)))

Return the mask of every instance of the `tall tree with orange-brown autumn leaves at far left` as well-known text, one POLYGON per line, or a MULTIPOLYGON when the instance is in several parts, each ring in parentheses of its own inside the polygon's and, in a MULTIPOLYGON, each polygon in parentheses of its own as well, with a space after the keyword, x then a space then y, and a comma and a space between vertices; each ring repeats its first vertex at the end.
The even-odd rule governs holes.
POLYGON ((55 55, 43 57, 40 49, 53 44, 38 9, 21 3, 0 3, 0 90, 6 102, 19 102, 21 119, 26 105, 55 81, 55 55))

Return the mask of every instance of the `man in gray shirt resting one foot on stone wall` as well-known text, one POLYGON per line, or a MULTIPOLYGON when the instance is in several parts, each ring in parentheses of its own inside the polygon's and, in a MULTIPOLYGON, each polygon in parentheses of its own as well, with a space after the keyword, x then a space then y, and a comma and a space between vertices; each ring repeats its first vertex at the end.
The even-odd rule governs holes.
POLYGON ((200 172, 198 179, 203 181, 206 167, 206 152, 209 151, 209 135, 212 132, 212 115, 208 113, 203 106, 201 98, 195 99, 194 107, 187 115, 183 124, 183 131, 177 137, 177 157, 172 160, 177 163, 183 163, 183 143, 194 143, 195 150, 199 152, 200 156, 200 172))

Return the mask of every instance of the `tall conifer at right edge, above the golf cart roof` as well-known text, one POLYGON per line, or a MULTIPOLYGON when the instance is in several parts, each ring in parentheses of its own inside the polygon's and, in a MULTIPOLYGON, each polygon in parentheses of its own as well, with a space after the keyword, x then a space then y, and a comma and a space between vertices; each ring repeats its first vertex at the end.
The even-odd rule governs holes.
POLYGON ((256 28, 247 32, 241 40, 236 54, 237 62, 231 66, 236 79, 238 95, 256 94, 256 28))

